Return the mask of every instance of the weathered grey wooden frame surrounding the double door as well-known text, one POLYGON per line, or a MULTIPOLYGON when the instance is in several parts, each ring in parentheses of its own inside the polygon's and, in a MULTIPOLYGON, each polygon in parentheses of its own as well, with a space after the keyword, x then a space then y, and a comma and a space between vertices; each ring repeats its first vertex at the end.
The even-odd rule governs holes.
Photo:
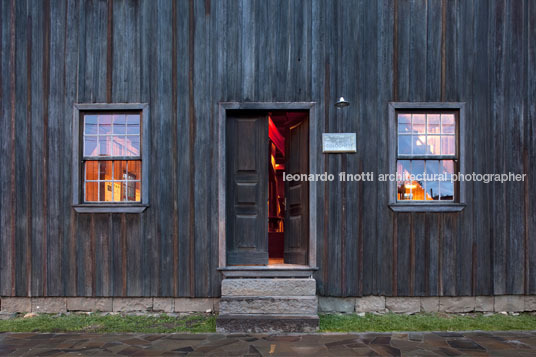
MULTIPOLYGON (((303 110, 309 112, 309 172, 316 173, 318 169, 320 148, 318 147, 319 132, 317 123, 319 122, 315 110, 316 102, 220 102, 218 103, 218 267, 219 269, 227 268, 227 246, 226 246, 226 143, 225 129, 227 123, 228 110, 303 110)), ((316 269, 316 182, 309 182, 309 259, 308 265, 304 266, 305 270, 316 269)), ((266 237, 268 239, 268 237, 266 237)), ((247 269, 247 267, 246 267, 247 269)), ((272 270, 268 266, 256 266, 255 270, 272 270)), ((292 268, 295 269, 295 268, 292 268)), ((244 267, 240 267, 244 270, 244 267)), ((284 268, 278 270, 285 270, 284 268)), ((291 270, 289 268, 289 270, 291 270)))

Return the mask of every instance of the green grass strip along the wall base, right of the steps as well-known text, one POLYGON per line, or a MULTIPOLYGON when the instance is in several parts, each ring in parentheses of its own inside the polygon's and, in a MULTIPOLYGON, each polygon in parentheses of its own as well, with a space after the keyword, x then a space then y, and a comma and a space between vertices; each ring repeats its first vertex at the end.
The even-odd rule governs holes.
POLYGON ((320 316, 320 332, 387 332, 387 331, 506 331, 534 330, 536 316, 519 314, 518 316, 494 314, 484 316, 481 313, 456 314, 366 314, 357 315, 325 314, 320 316))

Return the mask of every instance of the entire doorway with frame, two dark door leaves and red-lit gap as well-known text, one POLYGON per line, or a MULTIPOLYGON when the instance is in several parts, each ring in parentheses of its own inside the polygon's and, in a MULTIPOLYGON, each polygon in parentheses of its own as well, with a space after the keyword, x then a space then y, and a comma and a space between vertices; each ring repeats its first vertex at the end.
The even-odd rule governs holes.
POLYGON ((219 157, 225 175, 218 187, 219 242, 220 267, 226 271, 307 274, 315 266, 315 183, 283 179, 314 172, 313 106, 220 104, 219 157))

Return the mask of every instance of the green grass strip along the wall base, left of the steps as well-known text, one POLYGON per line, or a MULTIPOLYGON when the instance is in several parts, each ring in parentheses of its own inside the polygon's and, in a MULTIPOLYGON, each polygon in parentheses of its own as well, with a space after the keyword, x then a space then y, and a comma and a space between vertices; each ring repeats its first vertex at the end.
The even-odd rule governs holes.
POLYGON ((0 332, 215 332, 214 315, 122 316, 122 315, 38 315, 0 321, 0 332))

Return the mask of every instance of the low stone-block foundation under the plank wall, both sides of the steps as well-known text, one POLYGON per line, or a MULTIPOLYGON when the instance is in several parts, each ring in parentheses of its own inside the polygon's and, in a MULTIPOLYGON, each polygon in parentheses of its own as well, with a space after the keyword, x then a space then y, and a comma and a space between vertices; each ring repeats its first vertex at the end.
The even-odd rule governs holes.
MULTIPOLYGON (((1 297, 2 312, 219 312, 219 298, 1 297)), ((318 312, 524 312, 536 311, 536 295, 460 297, 318 297, 318 312)))

